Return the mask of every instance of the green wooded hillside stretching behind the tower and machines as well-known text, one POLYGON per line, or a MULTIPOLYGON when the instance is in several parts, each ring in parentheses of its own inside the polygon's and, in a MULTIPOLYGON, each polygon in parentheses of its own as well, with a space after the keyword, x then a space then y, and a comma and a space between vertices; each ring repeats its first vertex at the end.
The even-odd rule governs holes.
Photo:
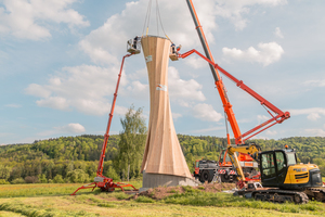
MULTIPOLYGON (((178 135, 178 138, 191 171, 196 159, 218 161, 219 153, 226 146, 225 138, 187 135, 178 135)), ((92 182, 103 140, 103 136, 82 135, 36 140, 28 144, 2 145, 0 146, 0 184, 92 182)), ((127 165, 121 163, 123 159, 120 155, 120 140, 119 135, 109 137, 104 162, 104 176, 114 180, 126 180, 127 177, 127 165)), ((259 144, 263 151, 284 149, 287 144, 296 149, 298 162, 318 165, 322 176, 325 176, 325 138, 323 137, 256 139, 248 142, 259 144)), ((141 149, 144 149, 144 144, 141 149)), ((140 151, 143 153, 142 150, 140 151)), ((132 162, 130 178, 142 177, 140 166, 141 156, 139 161, 132 162)))

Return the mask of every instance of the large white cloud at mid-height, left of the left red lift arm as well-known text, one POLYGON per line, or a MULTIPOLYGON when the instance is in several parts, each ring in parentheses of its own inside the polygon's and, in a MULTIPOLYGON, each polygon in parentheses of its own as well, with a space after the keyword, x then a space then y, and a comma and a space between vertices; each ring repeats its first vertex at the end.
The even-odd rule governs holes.
MULTIPOLYGON (((55 110, 75 108, 86 114, 103 115, 110 108, 106 97, 113 97, 118 71, 117 67, 104 68, 93 65, 64 67, 49 79, 48 85, 29 85, 26 93, 41 98, 37 101, 39 106, 55 110)), ((126 84, 126 77, 121 76, 120 87, 126 84)), ((126 111, 122 106, 116 106, 115 110, 117 114, 125 114, 126 111)))

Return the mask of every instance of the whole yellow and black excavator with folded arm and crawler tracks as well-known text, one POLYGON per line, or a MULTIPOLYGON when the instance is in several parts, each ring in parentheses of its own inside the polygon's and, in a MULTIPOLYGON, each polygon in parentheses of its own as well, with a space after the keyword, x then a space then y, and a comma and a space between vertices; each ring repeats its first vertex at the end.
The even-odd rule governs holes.
POLYGON ((321 171, 315 164, 298 164, 294 149, 261 152, 253 143, 229 145, 227 151, 237 171, 242 190, 235 194, 246 195, 260 201, 307 203, 309 200, 325 202, 325 189, 321 171), (236 152, 251 155, 258 163, 261 174, 259 182, 247 183, 238 164, 236 152))

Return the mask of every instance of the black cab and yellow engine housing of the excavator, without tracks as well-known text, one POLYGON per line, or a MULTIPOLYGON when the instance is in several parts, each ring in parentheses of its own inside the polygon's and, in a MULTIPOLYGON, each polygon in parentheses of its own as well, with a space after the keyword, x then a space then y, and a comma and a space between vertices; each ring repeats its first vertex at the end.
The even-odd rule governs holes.
POLYGON ((260 171, 263 187, 303 189, 323 184, 318 166, 297 164, 296 152, 292 149, 262 152, 260 171))

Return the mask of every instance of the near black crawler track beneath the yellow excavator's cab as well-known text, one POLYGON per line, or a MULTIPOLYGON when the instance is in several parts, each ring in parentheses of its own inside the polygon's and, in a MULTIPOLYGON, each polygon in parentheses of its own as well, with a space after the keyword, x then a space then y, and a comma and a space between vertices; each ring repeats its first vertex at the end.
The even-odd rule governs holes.
POLYGON ((257 201, 269 201, 269 202, 294 202, 296 204, 308 203, 309 197, 307 193, 299 191, 286 191, 278 189, 257 190, 251 193, 252 197, 257 201))

